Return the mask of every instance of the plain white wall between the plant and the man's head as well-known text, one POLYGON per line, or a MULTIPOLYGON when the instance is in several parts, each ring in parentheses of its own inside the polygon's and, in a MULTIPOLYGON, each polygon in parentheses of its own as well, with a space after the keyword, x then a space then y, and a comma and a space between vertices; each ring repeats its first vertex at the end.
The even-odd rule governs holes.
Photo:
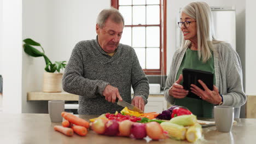
POLYGON ((110 0, 55 0, 50 4, 51 61, 68 61, 74 45, 80 40, 96 38, 96 18, 110 0))

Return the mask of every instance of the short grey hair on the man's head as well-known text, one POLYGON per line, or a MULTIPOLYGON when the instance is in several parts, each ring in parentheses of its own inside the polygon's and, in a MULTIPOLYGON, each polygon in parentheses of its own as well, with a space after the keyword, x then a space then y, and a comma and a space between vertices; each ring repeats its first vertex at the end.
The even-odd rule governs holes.
POLYGON ((97 21, 96 23, 100 28, 103 28, 105 26, 106 20, 110 18, 110 20, 116 22, 116 23, 121 23, 123 22, 124 25, 124 17, 121 15, 119 10, 115 8, 110 8, 110 9, 103 9, 100 14, 98 14, 97 21))

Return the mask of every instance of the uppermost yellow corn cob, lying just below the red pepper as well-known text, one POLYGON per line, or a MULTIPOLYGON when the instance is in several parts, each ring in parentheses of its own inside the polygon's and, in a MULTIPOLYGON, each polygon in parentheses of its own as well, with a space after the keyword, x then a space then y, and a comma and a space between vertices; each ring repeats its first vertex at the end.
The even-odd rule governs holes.
POLYGON ((195 115, 177 116, 177 117, 173 117, 170 120, 170 122, 178 125, 183 125, 183 126, 194 125, 196 123, 196 116, 195 115))

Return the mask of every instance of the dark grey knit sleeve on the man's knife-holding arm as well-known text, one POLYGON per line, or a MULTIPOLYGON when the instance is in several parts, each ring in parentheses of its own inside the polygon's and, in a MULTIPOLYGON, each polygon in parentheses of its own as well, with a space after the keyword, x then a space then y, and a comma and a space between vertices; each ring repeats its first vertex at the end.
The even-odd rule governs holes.
POLYGON ((83 77, 84 64, 82 52, 80 51, 82 46, 82 44, 78 43, 72 51, 62 77, 62 87, 63 90, 68 93, 78 94, 88 98, 96 98, 98 94, 102 95, 104 88, 109 85, 109 83, 83 77))

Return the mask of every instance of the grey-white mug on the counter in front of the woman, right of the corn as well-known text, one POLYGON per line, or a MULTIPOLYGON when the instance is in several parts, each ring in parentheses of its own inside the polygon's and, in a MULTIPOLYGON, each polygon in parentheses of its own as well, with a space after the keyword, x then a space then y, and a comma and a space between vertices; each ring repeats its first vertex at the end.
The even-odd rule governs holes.
POLYGON ((218 131, 229 132, 234 121, 234 107, 214 106, 214 120, 218 131))

